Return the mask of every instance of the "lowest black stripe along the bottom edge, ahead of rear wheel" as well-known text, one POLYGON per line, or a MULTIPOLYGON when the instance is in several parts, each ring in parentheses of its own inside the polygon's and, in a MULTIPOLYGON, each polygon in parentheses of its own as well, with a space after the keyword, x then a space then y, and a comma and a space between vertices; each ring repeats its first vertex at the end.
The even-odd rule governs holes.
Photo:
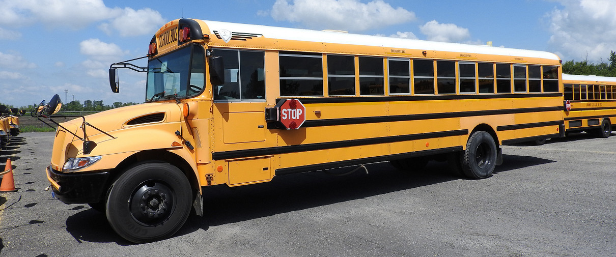
POLYGON ((352 166, 352 165, 362 165, 366 163, 376 163, 379 161, 396 160, 400 158, 419 157, 419 156, 425 156, 425 155, 436 155, 439 153, 458 152, 461 150, 462 150, 461 146, 447 147, 447 148, 441 148, 441 149, 422 150, 422 151, 416 151, 416 152, 410 152, 410 153, 399 153, 395 155, 384 155, 384 156, 360 158, 360 159, 346 160, 346 161, 334 161, 331 163, 320 163, 320 164, 315 164, 315 165, 282 168, 282 169, 276 169, 275 172, 276 172, 276 176, 280 176, 280 175, 286 175, 286 174, 292 174, 292 173, 318 171, 321 169, 339 168, 339 167, 352 166))

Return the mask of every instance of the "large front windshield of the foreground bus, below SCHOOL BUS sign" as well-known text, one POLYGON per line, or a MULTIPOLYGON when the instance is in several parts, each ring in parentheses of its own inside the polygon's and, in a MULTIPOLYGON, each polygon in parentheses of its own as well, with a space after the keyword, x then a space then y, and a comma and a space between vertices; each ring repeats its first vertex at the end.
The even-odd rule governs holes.
POLYGON ((198 96, 205 85, 204 67, 203 47, 194 45, 150 59, 146 100, 198 96))

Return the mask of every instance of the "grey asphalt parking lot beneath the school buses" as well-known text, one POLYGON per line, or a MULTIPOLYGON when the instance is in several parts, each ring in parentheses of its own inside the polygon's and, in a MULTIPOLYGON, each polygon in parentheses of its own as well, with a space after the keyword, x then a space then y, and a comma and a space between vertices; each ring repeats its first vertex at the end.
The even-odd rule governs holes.
POLYGON ((22 133, 0 151, 18 189, 0 193, 0 256, 616 256, 616 134, 504 146, 481 180, 431 161, 206 187, 203 218, 140 245, 45 190, 53 136, 22 133))

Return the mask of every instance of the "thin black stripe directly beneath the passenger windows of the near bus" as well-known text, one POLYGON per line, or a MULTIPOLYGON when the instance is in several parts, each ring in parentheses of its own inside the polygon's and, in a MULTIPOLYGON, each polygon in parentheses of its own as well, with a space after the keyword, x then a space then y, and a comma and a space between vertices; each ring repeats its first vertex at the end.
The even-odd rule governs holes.
MULTIPOLYGON (((503 98, 530 98, 530 97, 562 97, 562 93, 536 93, 536 94, 460 94, 440 96, 346 96, 346 97, 301 97, 302 104, 333 104, 352 102, 400 102, 424 100, 460 100, 460 99, 503 99, 503 98)), ((277 99, 276 102, 278 102, 277 99)))

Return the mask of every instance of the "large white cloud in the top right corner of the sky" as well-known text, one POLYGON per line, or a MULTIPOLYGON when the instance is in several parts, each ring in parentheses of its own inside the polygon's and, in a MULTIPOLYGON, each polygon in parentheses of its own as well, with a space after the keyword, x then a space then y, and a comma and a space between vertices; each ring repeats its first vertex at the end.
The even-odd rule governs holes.
POLYGON ((559 1, 563 9, 548 14, 549 44, 565 60, 608 62, 616 51, 616 1, 559 1))

